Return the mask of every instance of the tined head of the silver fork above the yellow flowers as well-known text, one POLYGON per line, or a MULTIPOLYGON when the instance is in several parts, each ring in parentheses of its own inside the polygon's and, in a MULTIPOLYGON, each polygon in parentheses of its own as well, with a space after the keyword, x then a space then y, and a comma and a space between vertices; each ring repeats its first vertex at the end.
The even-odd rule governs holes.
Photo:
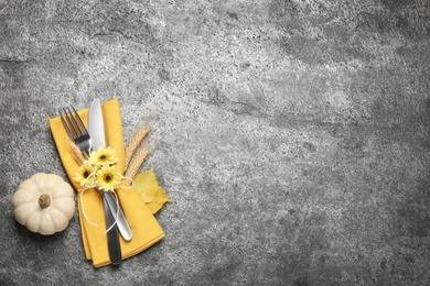
POLYGON ((93 146, 92 138, 89 136, 88 131, 85 128, 84 122, 82 122, 80 117, 76 112, 75 108, 73 106, 71 106, 71 108, 63 108, 64 116, 60 110, 60 118, 62 119, 68 138, 75 142, 78 148, 85 153, 87 157, 89 157, 93 146))

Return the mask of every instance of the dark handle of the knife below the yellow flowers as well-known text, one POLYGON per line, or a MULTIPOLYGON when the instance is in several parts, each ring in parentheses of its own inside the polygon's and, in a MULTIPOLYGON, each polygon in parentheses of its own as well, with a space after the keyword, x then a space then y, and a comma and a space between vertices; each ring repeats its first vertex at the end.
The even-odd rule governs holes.
MULTIPOLYGON (((103 191, 103 201, 104 201, 104 209, 105 209, 105 221, 106 221, 106 229, 110 228, 112 223, 115 222, 115 218, 112 213, 110 212, 109 205, 106 200, 106 191, 103 191)), ((119 235, 117 226, 111 228, 107 233, 107 243, 108 243, 108 252, 110 262, 112 265, 118 265, 121 263, 121 245, 119 244, 119 235)))

